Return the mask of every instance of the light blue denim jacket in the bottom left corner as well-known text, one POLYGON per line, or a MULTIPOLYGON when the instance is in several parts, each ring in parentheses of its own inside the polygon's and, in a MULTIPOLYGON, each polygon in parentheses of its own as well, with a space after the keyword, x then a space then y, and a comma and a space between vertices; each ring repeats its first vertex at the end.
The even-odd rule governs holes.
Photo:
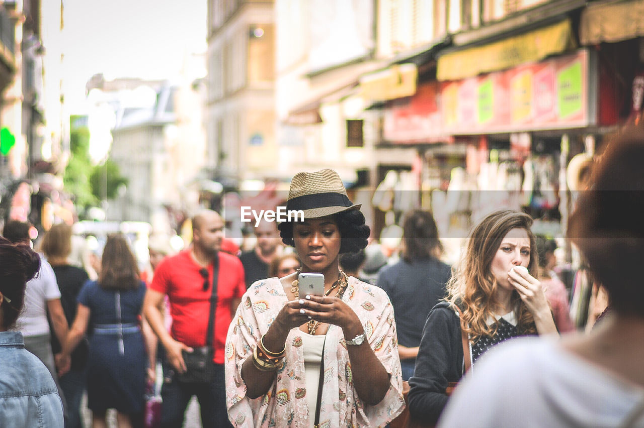
POLYGON ((52 375, 24 349, 20 332, 0 332, 0 427, 64 427, 52 375))

